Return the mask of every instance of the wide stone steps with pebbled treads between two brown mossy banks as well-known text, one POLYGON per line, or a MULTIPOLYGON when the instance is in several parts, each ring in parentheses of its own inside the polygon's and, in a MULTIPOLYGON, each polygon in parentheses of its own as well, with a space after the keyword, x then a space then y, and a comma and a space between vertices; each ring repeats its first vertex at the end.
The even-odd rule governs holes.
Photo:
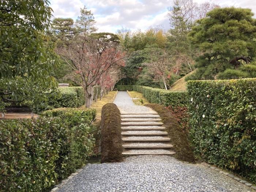
POLYGON ((123 155, 173 155, 165 127, 156 112, 121 113, 123 155))

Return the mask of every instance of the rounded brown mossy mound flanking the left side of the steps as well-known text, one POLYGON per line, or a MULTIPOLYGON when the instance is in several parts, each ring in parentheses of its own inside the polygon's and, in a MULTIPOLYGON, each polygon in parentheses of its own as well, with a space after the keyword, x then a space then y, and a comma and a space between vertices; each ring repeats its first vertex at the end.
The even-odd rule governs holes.
POLYGON ((116 104, 107 103, 101 112, 101 163, 122 161, 121 114, 116 104))

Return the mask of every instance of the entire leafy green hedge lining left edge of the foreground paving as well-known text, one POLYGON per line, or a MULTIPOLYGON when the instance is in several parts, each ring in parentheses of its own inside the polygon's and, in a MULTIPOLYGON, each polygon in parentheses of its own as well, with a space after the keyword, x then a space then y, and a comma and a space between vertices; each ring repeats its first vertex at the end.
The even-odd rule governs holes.
POLYGON ((37 120, 1 120, 0 191, 46 191, 82 166, 94 145, 95 113, 54 109, 37 120))

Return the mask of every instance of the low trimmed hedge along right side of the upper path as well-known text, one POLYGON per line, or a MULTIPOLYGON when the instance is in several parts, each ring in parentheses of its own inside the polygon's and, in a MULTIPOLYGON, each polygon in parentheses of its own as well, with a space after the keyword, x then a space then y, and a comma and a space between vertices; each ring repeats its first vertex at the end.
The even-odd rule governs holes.
POLYGON ((170 91, 164 89, 156 89, 146 86, 123 85, 117 86, 118 91, 137 91, 142 93, 143 97, 150 103, 157 103, 163 106, 171 106, 176 108, 177 106, 184 107, 188 104, 188 93, 187 91, 170 91))

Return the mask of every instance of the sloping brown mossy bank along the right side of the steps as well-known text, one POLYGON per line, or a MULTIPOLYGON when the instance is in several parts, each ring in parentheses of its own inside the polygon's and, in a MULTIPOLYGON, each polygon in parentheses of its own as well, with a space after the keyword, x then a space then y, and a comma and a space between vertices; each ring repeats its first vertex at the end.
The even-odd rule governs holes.
POLYGON ((194 163, 195 157, 193 155, 192 148, 189 145, 187 135, 182 132, 182 128, 172 113, 162 105, 150 103, 145 106, 154 109, 161 117, 163 126, 166 128, 168 136, 171 139, 173 148, 176 152, 174 157, 180 159, 181 161, 194 163))

